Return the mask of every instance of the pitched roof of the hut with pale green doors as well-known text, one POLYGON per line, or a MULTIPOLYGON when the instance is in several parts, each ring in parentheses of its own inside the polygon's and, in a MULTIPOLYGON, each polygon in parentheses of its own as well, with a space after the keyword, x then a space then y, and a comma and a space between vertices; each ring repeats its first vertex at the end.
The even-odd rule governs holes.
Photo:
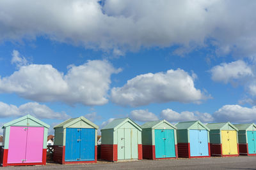
POLYGON ((130 122, 132 125, 137 127, 137 129, 139 129, 140 131, 142 130, 140 125, 138 125, 135 122, 133 122, 131 120, 131 118, 129 118, 129 117, 128 118, 116 118, 112 122, 110 122, 108 125, 104 126, 101 130, 114 129, 114 131, 115 131, 116 129, 118 129, 118 127, 120 127, 121 125, 125 124, 125 122, 130 122))

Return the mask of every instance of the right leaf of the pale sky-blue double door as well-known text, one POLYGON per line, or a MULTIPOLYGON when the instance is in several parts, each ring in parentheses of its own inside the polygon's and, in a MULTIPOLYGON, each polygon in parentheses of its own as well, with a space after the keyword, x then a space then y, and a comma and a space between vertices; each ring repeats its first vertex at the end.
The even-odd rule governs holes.
POLYGON ((199 130, 199 153, 200 156, 209 156, 208 132, 199 130))

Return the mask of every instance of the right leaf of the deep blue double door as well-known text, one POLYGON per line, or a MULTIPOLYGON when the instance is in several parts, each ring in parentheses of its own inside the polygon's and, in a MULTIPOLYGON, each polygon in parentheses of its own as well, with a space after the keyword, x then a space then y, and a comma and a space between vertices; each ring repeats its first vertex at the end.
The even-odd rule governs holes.
POLYGON ((81 129, 81 160, 95 160, 95 129, 81 129))

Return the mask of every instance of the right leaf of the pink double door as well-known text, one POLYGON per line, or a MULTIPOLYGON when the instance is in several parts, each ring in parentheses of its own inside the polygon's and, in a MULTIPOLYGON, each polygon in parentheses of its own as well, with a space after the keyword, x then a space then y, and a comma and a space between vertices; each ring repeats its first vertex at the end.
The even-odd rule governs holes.
POLYGON ((44 127, 28 127, 26 163, 42 162, 44 127))

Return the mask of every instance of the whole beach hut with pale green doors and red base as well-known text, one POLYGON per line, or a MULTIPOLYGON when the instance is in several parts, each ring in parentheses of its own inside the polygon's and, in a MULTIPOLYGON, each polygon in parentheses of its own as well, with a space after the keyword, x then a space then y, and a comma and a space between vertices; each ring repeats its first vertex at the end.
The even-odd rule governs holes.
POLYGON ((118 118, 101 131, 101 159, 142 159, 141 127, 130 118, 118 118))

